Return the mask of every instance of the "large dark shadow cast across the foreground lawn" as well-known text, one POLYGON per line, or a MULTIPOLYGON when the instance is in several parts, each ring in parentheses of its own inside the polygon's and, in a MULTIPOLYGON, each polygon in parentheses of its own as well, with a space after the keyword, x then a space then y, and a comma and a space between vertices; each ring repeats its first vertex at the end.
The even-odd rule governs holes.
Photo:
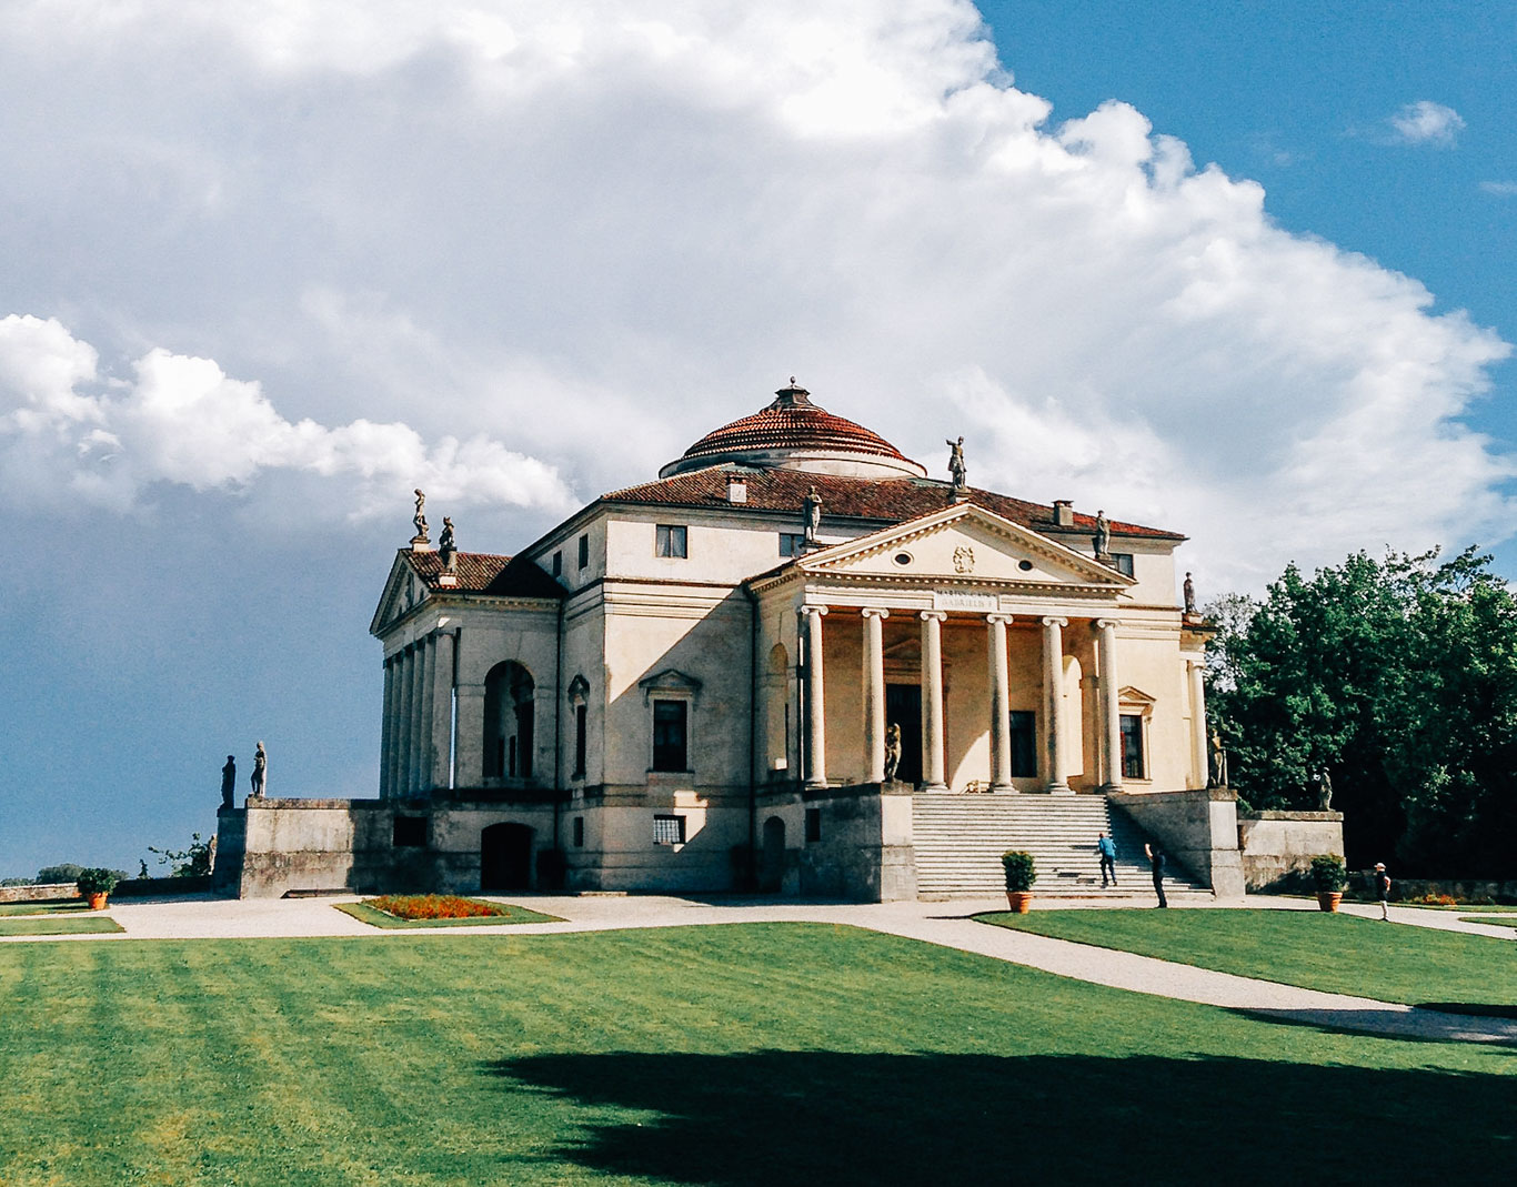
POLYGON ((775 1182, 1490 1181, 1517 1143, 1517 1076, 1094 1055, 537 1055, 513 1090, 642 1117, 581 1122, 557 1157, 719 1187, 775 1182), (1449 1117, 1481 1117, 1450 1140, 1449 1117), (1261 1161, 1262 1160, 1262 1161, 1261 1161), (1252 1173, 1250 1173, 1252 1167, 1252 1173))

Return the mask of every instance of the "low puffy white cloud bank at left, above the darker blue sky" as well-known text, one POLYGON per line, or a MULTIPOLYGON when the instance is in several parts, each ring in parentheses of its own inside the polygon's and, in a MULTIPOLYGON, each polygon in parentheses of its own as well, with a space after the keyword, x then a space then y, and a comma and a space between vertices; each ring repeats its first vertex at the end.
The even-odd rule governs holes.
POLYGON ((0 484, 11 502, 62 494, 124 511, 155 484, 241 491, 269 471, 346 484, 355 517, 420 485, 457 505, 566 508, 555 470, 482 435, 428 446, 400 423, 290 421, 256 382, 162 347, 132 377, 102 377, 97 352, 53 318, 0 318, 0 484))

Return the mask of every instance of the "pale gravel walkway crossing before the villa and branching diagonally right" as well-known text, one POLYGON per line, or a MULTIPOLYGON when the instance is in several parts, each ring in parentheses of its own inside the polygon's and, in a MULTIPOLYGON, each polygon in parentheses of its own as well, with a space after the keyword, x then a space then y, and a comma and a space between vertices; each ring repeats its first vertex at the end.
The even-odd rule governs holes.
MULTIPOLYGON (((1517 1046, 1517 1019, 1475 1017, 1420 1010, 1396 1002, 1377 1002, 1340 993, 1280 985, 1232 973, 1197 969, 1189 964, 1115 952, 1068 940, 992 928, 974 922, 981 911, 1004 910, 1004 899, 974 899, 954 902, 892 902, 892 904, 818 904, 793 899, 686 899, 672 896, 529 894, 513 902, 529 905, 545 914, 558 916, 558 923, 528 923, 501 928, 448 928, 382 931, 360 923, 332 910, 334 902, 353 902, 356 896, 323 899, 159 899, 121 900, 109 914, 123 926, 123 934, 67 937, 0 937, 0 943, 35 943, 42 940, 70 943, 124 943, 130 940, 191 940, 191 938, 255 938, 363 935, 373 940, 435 935, 523 935, 578 931, 613 931, 623 928, 677 928, 696 923, 758 923, 758 922, 819 922, 850 923, 860 928, 901 935, 924 943, 975 952, 995 960, 1025 964, 1060 976, 1091 981, 1135 993, 1151 993, 1186 1002, 1201 1002, 1229 1010, 1245 1010, 1282 1022, 1361 1031, 1403 1038, 1461 1040, 1517 1046)), ((1044 900, 1039 910, 1085 910, 1112 907, 1109 900, 1044 900)), ((1145 899, 1133 899, 1133 907, 1147 907, 1145 899)), ((1182 910, 1214 907, 1248 907, 1255 910, 1308 911, 1315 904, 1302 899, 1250 897, 1232 904, 1201 900, 1182 910)), ((1377 917, 1379 907, 1346 904, 1349 914, 1377 917)), ((1453 911, 1391 908, 1394 923, 1464 931, 1511 940, 1509 926, 1461 923, 1453 911)), ((1517 920, 1514 920, 1517 922, 1517 920)))

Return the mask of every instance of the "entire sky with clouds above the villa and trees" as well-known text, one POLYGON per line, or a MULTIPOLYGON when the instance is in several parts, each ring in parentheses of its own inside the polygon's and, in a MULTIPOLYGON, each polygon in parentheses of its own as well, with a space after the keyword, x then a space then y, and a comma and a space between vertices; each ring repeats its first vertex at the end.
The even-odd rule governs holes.
POLYGON ((511 552, 789 374, 1203 597, 1517 576, 1508 6, 62 8, 0 12, 0 875, 259 738, 373 794, 411 488, 511 552))

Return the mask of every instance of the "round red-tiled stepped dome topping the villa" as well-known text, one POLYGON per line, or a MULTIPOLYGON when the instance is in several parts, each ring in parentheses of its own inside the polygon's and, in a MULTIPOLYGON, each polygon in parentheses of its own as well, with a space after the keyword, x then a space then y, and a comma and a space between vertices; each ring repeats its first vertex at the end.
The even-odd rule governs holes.
POLYGON ((774 403, 768 408, 708 432, 678 461, 660 470, 658 476, 669 478, 718 462, 853 478, 927 474, 877 432, 812 403, 812 393, 796 387, 795 379, 790 387, 775 393, 774 403))

